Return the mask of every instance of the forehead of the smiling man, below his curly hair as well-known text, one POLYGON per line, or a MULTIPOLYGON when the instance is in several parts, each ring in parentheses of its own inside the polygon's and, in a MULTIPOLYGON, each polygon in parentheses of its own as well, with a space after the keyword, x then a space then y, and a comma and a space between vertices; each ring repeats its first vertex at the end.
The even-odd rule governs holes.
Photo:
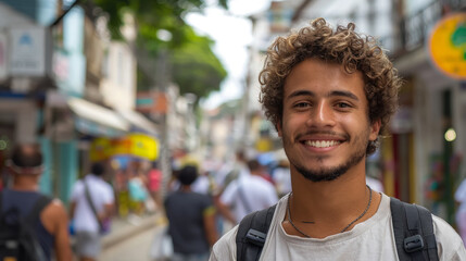
POLYGON ((287 76, 284 87, 285 99, 299 89, 308 89, 316 95, 344 90, 365 98, 364 78, 360 71, 348 73, 343 65, 319 59, 298 63, 287 76))

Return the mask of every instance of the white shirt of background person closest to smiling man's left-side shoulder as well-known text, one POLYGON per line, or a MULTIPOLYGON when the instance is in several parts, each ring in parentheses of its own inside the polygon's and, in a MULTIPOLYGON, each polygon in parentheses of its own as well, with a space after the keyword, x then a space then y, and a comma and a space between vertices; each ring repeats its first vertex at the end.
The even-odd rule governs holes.
POLYGON ((274 185, 265 178, 257 175, 241 175, 227 186, 221 196, 221 201, 234 207, 232 214, 239 223, 247 214, 275 204, 278 197, 274 185), (247 203, 240 197, 241 191, 247 203))

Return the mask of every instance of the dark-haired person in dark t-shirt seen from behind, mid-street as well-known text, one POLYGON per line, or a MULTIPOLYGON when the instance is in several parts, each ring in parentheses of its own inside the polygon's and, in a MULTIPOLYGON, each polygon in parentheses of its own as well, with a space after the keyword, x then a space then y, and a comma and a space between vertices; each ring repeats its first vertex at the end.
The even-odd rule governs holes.
POLYGON ((172 261, 205 261, 217 240, 215 208, 206 195, 193 192, 198 177, 194 165, 185 165, 177 175, 180 188, 165 199, 168 234, 172 237, 172 261))

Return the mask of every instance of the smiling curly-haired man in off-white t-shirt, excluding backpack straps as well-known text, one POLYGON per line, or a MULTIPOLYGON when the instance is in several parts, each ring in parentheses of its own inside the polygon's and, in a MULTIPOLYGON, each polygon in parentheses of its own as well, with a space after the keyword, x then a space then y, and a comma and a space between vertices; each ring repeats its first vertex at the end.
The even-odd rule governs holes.
MULTIPOLYGON (((365 159, 396 108, 401 79, 354 24, 318 18, 268 49, 261 102, 291 166, 260 260, 398 260, 390 198, 366 186, 365 159)), ((238 227, 211 260, 236 260, 238 227)), ((455 231, 433 216, 440 260, 466 260, 455 231)))

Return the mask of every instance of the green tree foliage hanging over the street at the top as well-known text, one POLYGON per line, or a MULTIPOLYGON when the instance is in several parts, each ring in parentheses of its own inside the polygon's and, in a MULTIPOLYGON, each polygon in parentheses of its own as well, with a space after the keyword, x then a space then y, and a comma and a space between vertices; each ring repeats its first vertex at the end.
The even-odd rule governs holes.
MULTIPOLYGON (((226 77, 226 71, 212 51, 213 41, 199 36, 184 17, 188 12, 202 12, 204 0, 92 0, 109 14, 109 29, 112 38, 122 40, 121 28, 124 15, 129 12, 135 17, 136 47, 143 48, 152 59, 164 49, 169 52, 172 79, 181 94, 192 92, 198 98, 218 90, 226 77), (169 40, 160 39, 160 30, 169 32, 169 40)), ((227 0, 218 4, 227 8, 227 0)), ((138 73, 138 83, 149 84, 148 75, 138 73)))

